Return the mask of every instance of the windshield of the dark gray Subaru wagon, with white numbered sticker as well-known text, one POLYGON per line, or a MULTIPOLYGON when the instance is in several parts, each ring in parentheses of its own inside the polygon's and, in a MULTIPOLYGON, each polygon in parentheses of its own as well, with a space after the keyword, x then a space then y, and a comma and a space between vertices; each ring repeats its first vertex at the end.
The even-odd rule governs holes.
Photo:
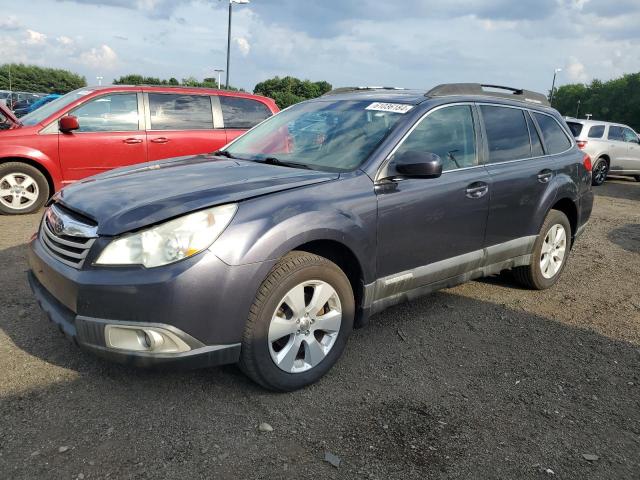
POLYGON ((350 171, 367 159, 411 108, 370 100, 300 103, 264 121, 225 150, 245 160, 276 159, 317 170, 350 171))

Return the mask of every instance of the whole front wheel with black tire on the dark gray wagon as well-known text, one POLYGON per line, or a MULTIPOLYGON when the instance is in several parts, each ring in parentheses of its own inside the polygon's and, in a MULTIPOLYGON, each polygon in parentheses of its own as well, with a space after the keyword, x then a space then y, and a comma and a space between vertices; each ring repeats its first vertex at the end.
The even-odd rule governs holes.
POLYGON ((258 290, 245 327, 240 368, 270 390, 288 392, 310 385, 340 358, 354 314, 351 284, 336 264, 311 253, 291 252, 273 267, 258 290), (322 303, 331 289, 332 296, 322 303), (321 299, 314 302, 316 294, 321 299), (294 312, 312 306, 315 310, 320 303, 320 309, 309 315, 294 312), (320 311, 324 313, 318 315, 320 311))

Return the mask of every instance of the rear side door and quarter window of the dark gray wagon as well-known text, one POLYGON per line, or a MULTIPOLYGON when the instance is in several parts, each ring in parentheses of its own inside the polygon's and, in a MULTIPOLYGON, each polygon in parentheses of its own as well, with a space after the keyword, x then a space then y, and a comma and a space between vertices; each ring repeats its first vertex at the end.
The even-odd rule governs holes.
POLYGON ((489 261, 496 263, 530 253, 544 210, 541 205, 555 197, 552 185, 559 162, 545 153, 568 150, 571 141, 549 115, 532 117, 528 110, 505 105, 482 104, 479 109, 491 177, 485 245, 492 253, 489 261), (549 130, 546 142, 543 129, 549 130))

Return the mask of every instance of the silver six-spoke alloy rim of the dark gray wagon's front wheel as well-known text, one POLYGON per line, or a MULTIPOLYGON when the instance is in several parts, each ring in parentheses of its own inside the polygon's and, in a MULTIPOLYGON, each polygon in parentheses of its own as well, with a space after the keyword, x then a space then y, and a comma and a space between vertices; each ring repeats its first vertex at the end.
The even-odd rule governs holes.
POLYGON ((317 366, 333 348, 342 323, 342 306, 327 282, 310 280, 280 300, 269 325, 269 353, 287 373, 317 366))

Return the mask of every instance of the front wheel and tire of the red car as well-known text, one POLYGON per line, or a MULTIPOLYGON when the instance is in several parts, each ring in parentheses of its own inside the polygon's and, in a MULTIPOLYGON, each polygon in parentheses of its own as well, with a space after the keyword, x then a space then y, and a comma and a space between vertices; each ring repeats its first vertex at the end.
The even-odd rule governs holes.
POLYGON ((33 213, 48 198, 49 183, 40 170, 21 162, 0 164, 0 213, 33 213))

